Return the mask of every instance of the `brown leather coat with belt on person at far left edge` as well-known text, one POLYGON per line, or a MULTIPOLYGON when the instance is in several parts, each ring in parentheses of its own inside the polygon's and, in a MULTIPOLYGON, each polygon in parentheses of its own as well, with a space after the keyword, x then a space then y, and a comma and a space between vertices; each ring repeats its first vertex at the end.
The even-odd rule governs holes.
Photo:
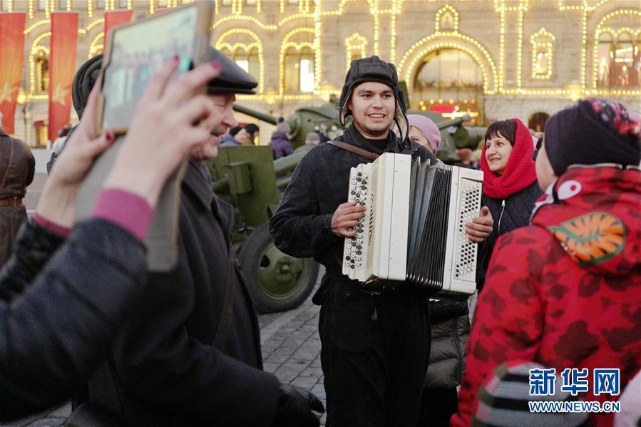
MULTIPOLYGON (((29 147, 0 129, 0 200, 19 202, 34 180, 35 169, 36 161, 29 147)), ((14 237, 25 220, 26 209, 21 203, 0 206, 0 266, 9 259, 14 237)))

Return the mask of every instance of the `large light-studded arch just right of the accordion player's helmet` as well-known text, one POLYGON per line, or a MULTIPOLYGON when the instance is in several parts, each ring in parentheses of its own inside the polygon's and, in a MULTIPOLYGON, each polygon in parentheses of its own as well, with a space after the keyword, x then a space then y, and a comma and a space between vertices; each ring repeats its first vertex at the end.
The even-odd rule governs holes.
POLYGON ((483 92, 493 95, 498 91, 498 73, 496 64, 487 49, 474 38, 460 33, 434 33, 414 43, 399 61, 399 76, 405 81, 412 81, 416 74, 416 65, 431 51, 442 48, 459 49, 478 64, 483 73, 483 92))

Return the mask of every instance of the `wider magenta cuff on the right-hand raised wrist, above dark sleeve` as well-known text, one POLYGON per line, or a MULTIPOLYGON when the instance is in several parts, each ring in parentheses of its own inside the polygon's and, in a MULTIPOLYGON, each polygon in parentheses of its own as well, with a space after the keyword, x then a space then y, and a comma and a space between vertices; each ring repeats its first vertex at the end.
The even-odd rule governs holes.
POLYGON ((144 242, 153 209, 143 197, 124 190, 104 188, 96 197, 91 216, 123 227, 144 242))

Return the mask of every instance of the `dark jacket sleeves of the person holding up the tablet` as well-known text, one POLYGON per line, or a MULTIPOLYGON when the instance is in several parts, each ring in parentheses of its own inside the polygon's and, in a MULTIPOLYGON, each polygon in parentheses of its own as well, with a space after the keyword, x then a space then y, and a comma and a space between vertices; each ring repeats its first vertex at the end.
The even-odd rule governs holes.
POLYGON ((87 220, 63 242, 28 221, 0 270, 0 420, 81 387, 143 282, 145 247, 122 228, 87 220))

